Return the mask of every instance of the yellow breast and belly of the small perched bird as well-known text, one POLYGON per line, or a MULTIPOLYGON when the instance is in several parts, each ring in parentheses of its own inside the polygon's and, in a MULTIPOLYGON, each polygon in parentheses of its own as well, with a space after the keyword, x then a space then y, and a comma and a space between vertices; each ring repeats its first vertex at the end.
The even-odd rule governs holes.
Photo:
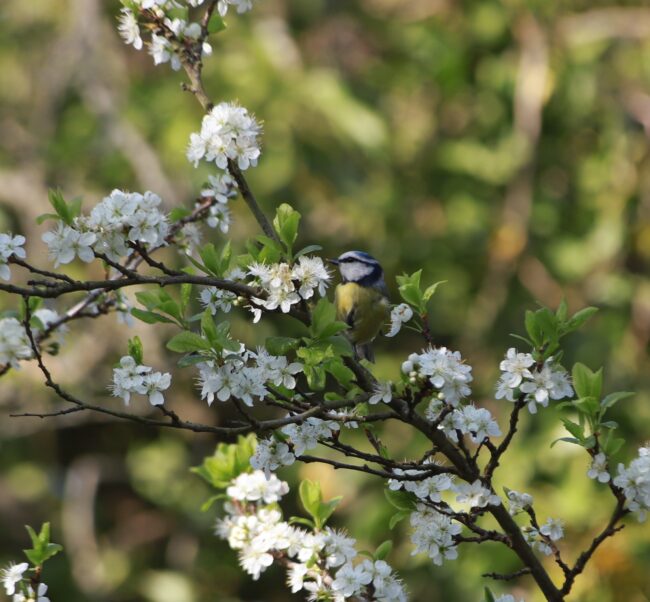
POLYGON ((388 318, 388 299, 378 290, 355 282, 339 284, 334 302, 336 317, 348 323, 347 334, 355 344, 372 341, 388 318))

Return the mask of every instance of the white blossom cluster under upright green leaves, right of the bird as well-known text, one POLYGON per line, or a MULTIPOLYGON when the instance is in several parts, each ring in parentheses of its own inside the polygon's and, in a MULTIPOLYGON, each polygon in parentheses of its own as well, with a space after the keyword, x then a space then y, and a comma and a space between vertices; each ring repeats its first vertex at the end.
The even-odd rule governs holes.
POLYGON ((511 347, 499 368, 501 377, 497 383, 496 398, 516 401, 521 393, 531 414, 537 413, 537 404, 547 407, 551 399, 573 395, 567 371, 553 358, 547 359, 539 367, 530 353, 519 353, 511 347))

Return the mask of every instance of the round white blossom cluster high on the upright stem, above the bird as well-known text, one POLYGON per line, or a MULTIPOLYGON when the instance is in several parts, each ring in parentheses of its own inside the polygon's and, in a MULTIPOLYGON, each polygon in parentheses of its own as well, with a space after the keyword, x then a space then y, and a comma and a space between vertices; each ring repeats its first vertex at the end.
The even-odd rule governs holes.
POLYGON ((202 159, 222 170, 228 169, 229 160, 242 170, 254 167, 260 156, 261 131, 244 107, 221 102, 203 117, 201 131, 190 134, 187 159, 195 167, 202 159))

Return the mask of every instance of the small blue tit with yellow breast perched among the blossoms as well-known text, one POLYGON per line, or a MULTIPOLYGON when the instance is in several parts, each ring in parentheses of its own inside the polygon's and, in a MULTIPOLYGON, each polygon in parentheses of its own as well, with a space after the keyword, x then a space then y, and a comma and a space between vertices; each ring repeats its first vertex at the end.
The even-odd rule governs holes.
POLYGON ((348 251, 330 259, 341 272, 334 304, 337 320, 345 322, 357 359, 374 361, 370 343, 386 322, 390 301, 379 262, 363 251, 348 251))

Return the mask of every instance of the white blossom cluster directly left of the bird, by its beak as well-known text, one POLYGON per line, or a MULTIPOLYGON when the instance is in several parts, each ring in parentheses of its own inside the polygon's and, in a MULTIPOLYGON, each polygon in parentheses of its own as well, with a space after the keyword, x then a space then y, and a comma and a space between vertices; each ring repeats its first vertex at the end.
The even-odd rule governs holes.
POLYGON ((291 311, 291 306, 301 299, 311 299, 314 292, 325 295, 331 276, 320 257, 301 256, 292 266, 287 263, 254 262, 248 266, 251 284, 260 287, 265 293, 264 299, 255 298, 254 302, 269 311, 280 308, 283 313, 291 311))

